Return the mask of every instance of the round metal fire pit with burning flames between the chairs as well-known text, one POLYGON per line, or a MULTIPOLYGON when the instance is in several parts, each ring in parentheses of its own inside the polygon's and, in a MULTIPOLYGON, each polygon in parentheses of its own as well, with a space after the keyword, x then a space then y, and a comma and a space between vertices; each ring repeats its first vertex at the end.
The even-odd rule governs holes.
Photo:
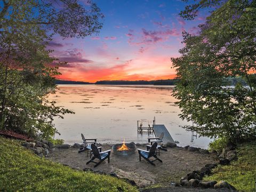
POLYGON ((136 146, 132 143, 116 144, 112 147, 113 153, 116 155, 127 156, 135 153, 136 146))

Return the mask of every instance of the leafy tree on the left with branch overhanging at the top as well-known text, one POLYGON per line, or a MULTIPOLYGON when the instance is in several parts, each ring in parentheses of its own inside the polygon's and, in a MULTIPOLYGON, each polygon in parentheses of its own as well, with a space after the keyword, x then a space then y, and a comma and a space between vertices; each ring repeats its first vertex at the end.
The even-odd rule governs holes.
MULTIPOLYGON (((77 0, 2 0, 0 3, 0 129, 47 138, 53 117, 72 113, 47 100, 58 67, 46 45, 54 34, 83 38, 99 33, 103 15, 96 4, 77 0)), ((60 63, 63 64, 63 63, 60 63)))

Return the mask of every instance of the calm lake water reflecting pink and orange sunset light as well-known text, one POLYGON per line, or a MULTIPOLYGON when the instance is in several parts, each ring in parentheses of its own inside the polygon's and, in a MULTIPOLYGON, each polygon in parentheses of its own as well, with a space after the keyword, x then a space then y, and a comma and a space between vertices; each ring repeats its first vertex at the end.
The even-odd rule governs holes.
POLYGON ((137 133, 137 120, 143 126, 164 124, 179 146, 207 148, 211 141, 200 137, 191 142, 191 132, 181 126, 190 124, 182 121, 180 109, 174 104, 173 86, 154 85, 59 85, 49 99, 57 106, 73 110, 64 119, 55 118, 54 124, 65 143, 82 142, 85 138, 97 138, 100 143, 127 142, 146 143, 147 133, 137 133))

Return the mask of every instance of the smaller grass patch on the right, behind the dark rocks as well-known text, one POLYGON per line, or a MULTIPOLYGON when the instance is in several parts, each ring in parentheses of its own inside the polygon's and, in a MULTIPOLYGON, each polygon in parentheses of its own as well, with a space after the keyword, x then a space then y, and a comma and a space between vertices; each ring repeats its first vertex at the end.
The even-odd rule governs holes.
POLYGON ((238 191, 255 190, 256 181, 256 141, 243 143, 237 147, 238 160, 230 165, 221 166, 213 170, 213 175, 204 180, 225 180, 238 191))

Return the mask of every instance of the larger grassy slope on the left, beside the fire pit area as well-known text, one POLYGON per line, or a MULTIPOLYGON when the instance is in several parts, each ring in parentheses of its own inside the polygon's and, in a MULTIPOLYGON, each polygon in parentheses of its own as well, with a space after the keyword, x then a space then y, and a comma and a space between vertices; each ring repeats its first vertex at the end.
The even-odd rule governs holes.
POLYGON ((138 191, 109 175, 76 171, 0 137, 0 191, 138 191))

